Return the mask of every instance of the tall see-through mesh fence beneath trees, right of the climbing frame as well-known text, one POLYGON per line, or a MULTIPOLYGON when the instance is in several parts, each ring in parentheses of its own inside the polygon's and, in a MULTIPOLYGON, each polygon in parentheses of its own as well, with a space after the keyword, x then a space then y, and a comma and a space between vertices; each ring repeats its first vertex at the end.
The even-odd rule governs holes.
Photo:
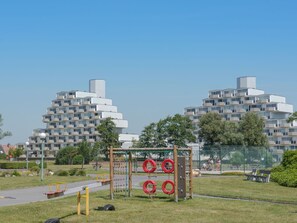
POLYGON ((202 171, 245 172, 279 164, 273 152, 264 147, 203 146, 193 151, 193 167, 202 171))

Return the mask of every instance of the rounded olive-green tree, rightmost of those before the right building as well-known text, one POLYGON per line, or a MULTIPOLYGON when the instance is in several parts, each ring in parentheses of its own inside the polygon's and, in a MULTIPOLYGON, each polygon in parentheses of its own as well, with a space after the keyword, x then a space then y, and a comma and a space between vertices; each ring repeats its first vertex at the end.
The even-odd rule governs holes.
POLYGON ((239 131, 243 135, 245 146, 268 146, 268 138, 263 129, 265 121, 255 112, 247 112, 239 122, 239 131))

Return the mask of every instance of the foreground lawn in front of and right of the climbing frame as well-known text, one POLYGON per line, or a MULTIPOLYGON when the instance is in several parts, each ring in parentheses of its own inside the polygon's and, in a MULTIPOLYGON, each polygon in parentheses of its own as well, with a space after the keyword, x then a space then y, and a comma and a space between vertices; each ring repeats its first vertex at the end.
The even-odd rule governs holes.
MULTIPOLYGON (((108 199, 108 191, 90 195, 90 216, 77 216, 76 197, 46 202, 1 207, 1 222, 44 222, 63 217, 61 222, 297 222, 296 188, 274 183, 263 184, 243 180, 244 177, 200 177, 194 179, 195 194, 254 199, 250 201, 209 197, 175 203, 172 197, 158 192, 148 198, 133 191, 132 198, 108 199), (263 201, 260 201, 263 200, 263 201), (276 204, 291 202, 292 204, 276 204), (96 207, 113 204, 116 211, 96 211, 96 207), (293 204, 295 203, 295 204, 293 204), (74 214, 74 215, 73 215, 74 214)), ((82 203, 82 210, 85 206, 82 203)))

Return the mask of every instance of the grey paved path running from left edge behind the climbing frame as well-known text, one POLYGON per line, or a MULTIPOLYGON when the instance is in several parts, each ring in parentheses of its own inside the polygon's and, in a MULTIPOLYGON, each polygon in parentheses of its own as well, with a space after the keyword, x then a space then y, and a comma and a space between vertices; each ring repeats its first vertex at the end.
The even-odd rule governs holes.
MULTIPOLYGON (((133 179, 132 179, 133 188, 139 188, 139 183, 145 181, 146 179, 148 179, 147 176, 133 176, 133 179)), ((161 179, 161 178, 158 177, 158 179, 161 179)), ((76 182, 76 183, 67 183, 67 190, 71 191, 77 187, 94 185, 94 183, 96 183, 95 180, 76 182)), ((91 188, 90 192, 95 192, 99 190, 108 190, 108 189, 109 189, 109 185, 105 185, 101 187, 91 188)), ((45 193, 48 192, 48 190, 49 190, 48 186, 42 186, 42 187, 32 187, 32 188, 25 188, 25 189, 0 191, 0 207, 12 206, 12 205, 18 205, 18 204, 27 204, 31 202, 37 202, 37 201, 47 201, 48 199, 45 193), (10 197, 10 198, 5 198, 5 197, 10 197)), ((74 195, 74 194, 75 193, 70 193, 65 196, 74 195)))

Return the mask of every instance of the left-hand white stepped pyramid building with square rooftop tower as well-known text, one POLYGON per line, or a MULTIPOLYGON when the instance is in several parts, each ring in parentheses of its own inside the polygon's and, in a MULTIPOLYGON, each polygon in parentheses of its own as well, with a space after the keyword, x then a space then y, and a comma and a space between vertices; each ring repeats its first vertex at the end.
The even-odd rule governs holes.
POLYGON ((84 139, 90 143, 100 141, 96 126, 108 117, 117 127, 120 142, 138 140, 138 135, 123 134, 128 121, 123 119, 112 100, 105 98, 104 80, 90 80, 89 92, 59 92, 43 116, 46 128, 34 130, 29 138, 30 156, 41 157, 41 132, 46 133, 44 154, 47 158, 54 157, 60 148, 76 146, 84 139))

